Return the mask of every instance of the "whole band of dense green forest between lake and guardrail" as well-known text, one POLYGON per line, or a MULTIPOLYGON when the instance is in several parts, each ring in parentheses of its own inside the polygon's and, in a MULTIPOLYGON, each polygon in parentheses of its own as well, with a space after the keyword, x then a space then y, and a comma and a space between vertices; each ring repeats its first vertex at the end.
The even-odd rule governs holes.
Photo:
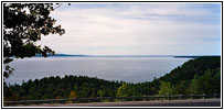
POLYGON ((87 76, 45 77, 4 85, 6 100, 190 95, 221 92, 221 57, 196 57, 152 81, 128 84, 87 76))

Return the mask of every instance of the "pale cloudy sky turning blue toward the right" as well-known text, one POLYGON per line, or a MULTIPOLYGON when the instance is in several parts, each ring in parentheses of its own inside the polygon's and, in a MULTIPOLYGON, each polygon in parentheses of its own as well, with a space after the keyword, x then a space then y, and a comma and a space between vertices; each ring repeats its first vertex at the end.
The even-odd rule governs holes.
POLYGON ((60 54, 221 55, 220 3, 67 3, 65 29, 38 44, 60 54))

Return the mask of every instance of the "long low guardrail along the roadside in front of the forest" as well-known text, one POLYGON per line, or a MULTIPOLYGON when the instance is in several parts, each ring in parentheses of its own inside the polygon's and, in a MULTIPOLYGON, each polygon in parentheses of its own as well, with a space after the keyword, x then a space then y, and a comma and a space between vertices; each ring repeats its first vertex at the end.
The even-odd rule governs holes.
POLYGON ((74 102, 103 102, 103 101, 151 101, 151 100, 182 100, 182 99, 205 99, 220 98, 221 95, 171 95, 171 96, 143 96, 143 97, 97 97, 76 99, 45 99, 45 100, 19 100, 3 101, 4 106, 15 105, 40 105, 40 103, 74 103, 74 102))

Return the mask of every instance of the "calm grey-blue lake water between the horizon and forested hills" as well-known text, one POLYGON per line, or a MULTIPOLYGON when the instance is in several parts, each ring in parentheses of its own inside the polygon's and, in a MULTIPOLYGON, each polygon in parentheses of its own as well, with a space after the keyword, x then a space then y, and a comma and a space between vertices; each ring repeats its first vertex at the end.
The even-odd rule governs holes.
POLYGON ((151 81, 181 66, 189 58, 174 57, 32 57, 15 59, 10 84, 50 76, 77 75, 127 82, 151 81))

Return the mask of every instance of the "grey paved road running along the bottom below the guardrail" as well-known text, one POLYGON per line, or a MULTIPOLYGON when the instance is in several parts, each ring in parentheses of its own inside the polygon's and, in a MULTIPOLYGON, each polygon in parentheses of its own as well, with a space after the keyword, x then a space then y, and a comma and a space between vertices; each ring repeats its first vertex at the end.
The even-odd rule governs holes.
POLYGON ((221 99, 31 105, 30 107, 221 107, 221 99))

